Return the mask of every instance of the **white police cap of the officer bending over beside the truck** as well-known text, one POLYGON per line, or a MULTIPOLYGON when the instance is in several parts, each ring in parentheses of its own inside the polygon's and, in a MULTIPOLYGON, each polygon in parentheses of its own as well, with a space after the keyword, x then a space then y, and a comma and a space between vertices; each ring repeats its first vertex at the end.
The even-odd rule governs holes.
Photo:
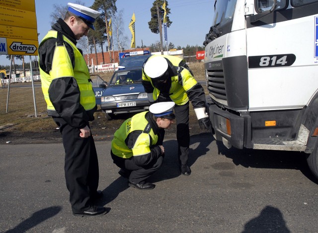
POLYGON ((168 68, 168 62, 161 56, 153 55, 150 57, 144 67, 147 76, 151 78, 159 78, 168 68))

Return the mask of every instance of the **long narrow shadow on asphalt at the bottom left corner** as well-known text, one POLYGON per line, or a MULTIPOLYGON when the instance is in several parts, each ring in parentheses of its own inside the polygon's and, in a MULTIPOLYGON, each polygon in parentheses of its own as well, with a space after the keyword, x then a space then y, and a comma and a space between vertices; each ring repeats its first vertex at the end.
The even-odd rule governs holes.
POLYGON ((43 210, 35 212, 30 218, 24 220, 15 228, 6 231, 5 233, 23 233, 27 230, 35 227, 36 225, 44 222, 45 220, 52 218, 62 210, 61 206, 52 206, 43 210))

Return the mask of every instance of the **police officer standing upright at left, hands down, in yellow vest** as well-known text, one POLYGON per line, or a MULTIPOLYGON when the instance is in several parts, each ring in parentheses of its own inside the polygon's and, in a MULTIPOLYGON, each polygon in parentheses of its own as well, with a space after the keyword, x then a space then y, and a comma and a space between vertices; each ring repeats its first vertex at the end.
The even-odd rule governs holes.
POLYGON ((100 216, 106 208, 94 206, 102 197, 98 187, 98 160, 89 121, 96 111, 89 71, 77 40, 86 36, 100 15, 88 7, 68 3, 39 46, 42 91, 48 116, 60 127, 65 149, 65 178, 75 216, 100 216))

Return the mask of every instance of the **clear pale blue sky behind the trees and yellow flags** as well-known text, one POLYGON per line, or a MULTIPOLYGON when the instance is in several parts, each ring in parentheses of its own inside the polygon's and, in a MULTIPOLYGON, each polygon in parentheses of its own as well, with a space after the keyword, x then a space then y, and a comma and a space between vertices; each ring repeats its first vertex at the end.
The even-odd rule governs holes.
MULTIPOLYGON (((81 0, 86 6, 91 6, 94 0, 81 0)), ((50 14, 54 11, 53 4, 65 4, 74 2, 72 0, 35 0, 37 17, 37 27, 39 42, 43 39, 47 31, 51 28, 50 14)), ((124 34, 129 38, 127 47, 130 47, 131 33, 128 28, 129 22, 135 12, 135 36, 136 46, 150 46, 159 41, 159 34, 150 31, 148 22, 151 19, 150 8, 154 0, 117 0, 117 10, 124 12, 124 34)), ((170 8, 169 18, 172 24, 167 28, 168 43, 175 46, 185 47, 187 45, 202 46, 205 34, 209 32, 212 25, 211 13, 213 10, 213 0, 168 0, 170 8)), ((162 29, 163 30, 163 29, 162 29)), ((164 37, 163 37, 164 42, 164 37)), ((4 55, 0 56, 0 64, 9 64, 9 60, 4 55)), ((17 62, 19 63, 19 62, 17 62)))

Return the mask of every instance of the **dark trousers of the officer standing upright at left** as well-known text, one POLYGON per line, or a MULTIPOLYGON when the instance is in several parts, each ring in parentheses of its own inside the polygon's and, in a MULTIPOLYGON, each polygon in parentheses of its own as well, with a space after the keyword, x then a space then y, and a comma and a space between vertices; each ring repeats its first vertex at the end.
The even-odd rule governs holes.
POLYGON ((79 128, 70 126, 60 117, 53 119, 62 133, 65 179, 72 210, 74 213, 80 213, 92 204, 90 198, 96 194, 98 187, 99 171, 94 139, 92 136, 81 138, 79 128))

